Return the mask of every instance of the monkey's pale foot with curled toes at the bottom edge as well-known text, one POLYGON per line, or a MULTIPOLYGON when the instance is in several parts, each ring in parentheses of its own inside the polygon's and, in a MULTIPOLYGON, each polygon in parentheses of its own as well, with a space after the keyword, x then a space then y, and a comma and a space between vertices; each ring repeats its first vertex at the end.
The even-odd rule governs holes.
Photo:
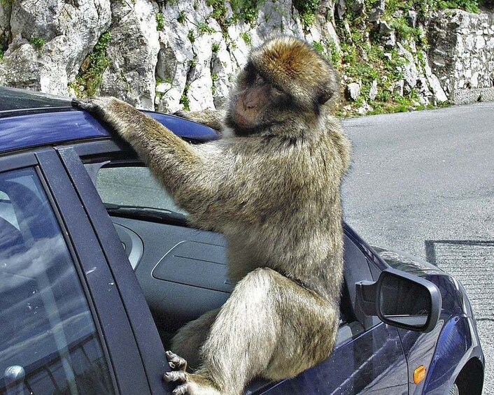
POLYGON ((170 372, 164 373, 164 381, 173 382, 176 388, 173 390, 174 395, 220 395, 211 380, 203 375, 197 375, 185 372, 187 361, 171 351, 166 353, 170 372))

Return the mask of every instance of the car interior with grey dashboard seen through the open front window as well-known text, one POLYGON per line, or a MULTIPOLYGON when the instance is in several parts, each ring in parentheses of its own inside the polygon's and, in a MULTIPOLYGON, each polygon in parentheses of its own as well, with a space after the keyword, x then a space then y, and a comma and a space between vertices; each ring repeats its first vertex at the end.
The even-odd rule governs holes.
MULTIPOLYGON (((85 164, 139 280, 164 347, 184 324, 225 303, 234 284, 227 278, 225 238, 190 227, 139 161, 108 159, 85 164)), ((347 254, 360 254, 346 237, 347 254), (349 246, 349 247, 348 247, 349 246), (353 246, 353 248, 352 248, 353 246)), ((353 259, 353 258, 352 258, 353 259)), ((355 321, 344 285, 340 325, 355 321)), ((346 337, 346 336, 345 336, 346 337)))

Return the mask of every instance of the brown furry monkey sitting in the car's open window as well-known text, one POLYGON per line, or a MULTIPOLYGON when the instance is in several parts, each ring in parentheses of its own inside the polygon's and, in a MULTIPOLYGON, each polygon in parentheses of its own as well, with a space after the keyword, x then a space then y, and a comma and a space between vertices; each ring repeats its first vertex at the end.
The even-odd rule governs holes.
POLYGON ((115 98, 76 101, 132 145, 193 226, 227 240, 236 285, 221 308, 172 339, 164 380, 174 394, 242 394, 253 378, 292 378, 332 353, 343 281, 340 189, 351 156, 331 115, 338 96, 327 59, 305 41, 275 36, 250 51, 224 111, 181 113, 220 129, 216 141, 187 143, 115 98))

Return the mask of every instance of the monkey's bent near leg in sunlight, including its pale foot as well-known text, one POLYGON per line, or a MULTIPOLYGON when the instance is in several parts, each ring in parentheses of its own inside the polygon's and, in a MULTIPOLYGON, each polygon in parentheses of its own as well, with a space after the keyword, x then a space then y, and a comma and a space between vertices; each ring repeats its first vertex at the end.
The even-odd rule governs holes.
POLYGON ((337 302, 269 268, 256 269, 220 309, 197 372, 172 371, 164 379, 178 384, 174 394, 237 395, 256 376, 294 377, 330 355, 338 320, 337 302))

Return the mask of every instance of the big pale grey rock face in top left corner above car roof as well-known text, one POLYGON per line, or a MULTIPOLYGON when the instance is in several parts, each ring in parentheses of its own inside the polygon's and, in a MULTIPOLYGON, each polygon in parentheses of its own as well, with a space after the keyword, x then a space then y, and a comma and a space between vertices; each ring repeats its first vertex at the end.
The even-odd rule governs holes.
POLYGON ((69 94, 68 83, 111 23, 110 0, 13 1, 0 7, 0 29, 10 36, 0 82, 53 94, 69 94))

